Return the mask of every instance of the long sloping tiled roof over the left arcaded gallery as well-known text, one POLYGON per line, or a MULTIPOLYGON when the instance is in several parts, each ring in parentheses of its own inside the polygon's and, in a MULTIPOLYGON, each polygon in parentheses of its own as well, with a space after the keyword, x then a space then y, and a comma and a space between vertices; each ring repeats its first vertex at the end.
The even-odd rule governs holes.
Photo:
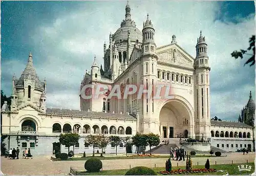
POLYGON ((95 116, 95 117, 112 117, 112 118, 126 118, 126 119, 136 119, 132 115, 123 113, 105 113, 105 112, 93 112, 93 111, 79 111, 79 110, 68 110, 68 109, 57 109, 57 108, 47 108, 47 114, 67 114, 67 115, 81 115, 81 116, 95 116))

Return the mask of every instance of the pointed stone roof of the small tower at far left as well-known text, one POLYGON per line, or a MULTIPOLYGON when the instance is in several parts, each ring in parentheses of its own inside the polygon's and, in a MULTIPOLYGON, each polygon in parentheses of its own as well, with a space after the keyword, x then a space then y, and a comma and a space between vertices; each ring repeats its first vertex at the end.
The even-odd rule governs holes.
POLYGON ((36 74, 35 68, 33 66, 33 57, 32 57, 31 53, 29 53, 29 58, 28 58, 28 63, 27 63, 26 68, 24 69, 22 75, 20 76, 19 80, 15 84, 16 88, 24 87, 24 80, 26 78, 31 78, 32 80, 34 80, 35 88, 44 89, 44 86, 40 82, 40 80, 36 74))

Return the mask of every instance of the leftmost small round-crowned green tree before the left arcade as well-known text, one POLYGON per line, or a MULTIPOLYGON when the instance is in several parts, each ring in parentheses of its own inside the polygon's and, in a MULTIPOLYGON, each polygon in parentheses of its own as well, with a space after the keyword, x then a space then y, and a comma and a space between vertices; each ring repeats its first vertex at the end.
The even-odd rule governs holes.
MULTIPOLYGON (((74 146, 78 143, 79 135, 77 133, 66 133, 61 134, 59 136, 59 143, 61 145, 65 145, 66 147, 70 148, 70 146, 74 146)), ((68 149, 69 152, 69 149, 68 149)))

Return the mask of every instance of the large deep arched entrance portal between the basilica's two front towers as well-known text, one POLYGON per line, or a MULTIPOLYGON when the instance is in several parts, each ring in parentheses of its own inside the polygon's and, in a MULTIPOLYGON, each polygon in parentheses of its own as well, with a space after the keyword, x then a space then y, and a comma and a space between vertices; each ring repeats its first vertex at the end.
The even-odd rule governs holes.
POLYGON ((165 103, 160 110, 160 134, 162 138, 190 137, 190 110, 179 99, 165 103))

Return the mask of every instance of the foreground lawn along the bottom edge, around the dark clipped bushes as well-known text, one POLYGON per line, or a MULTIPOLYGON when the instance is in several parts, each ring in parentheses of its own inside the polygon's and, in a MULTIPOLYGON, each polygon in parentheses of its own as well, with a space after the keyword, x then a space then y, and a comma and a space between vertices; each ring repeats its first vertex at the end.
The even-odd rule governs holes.
MULTIPOLYGON (((251 171, 239 171, 238 170, 238 166, 244 164, 246 165, 246 163, 240 163, 240 164, 217 164, 217 165, 211 165, 210 168, 214 168, 217 171, 218 170, 223 170, 224 172, 204 172, 204 173, 188 173, 187 175, 222 175, 222 174, 226 174, 226 172, 229 173, 229 175, 248 175, 251 174, 254 171, 254 163, 248 163, 248 166, 251 166, 251 171)), ((185 169, 185 166, 181 166, 179 167, 180 169, 185 169)), ((199 165, 199 166, 193 166, 193 169, 196 168, 204 168, 203 165, 199 165)), ((157 172, 157 174, 160 175, 160 171, 165 170, 165 167, 156 167, 156 168, 152 168, 153 170, 155 170, 155 172, 157 172)), ((178 169, 178 167, 172 167, 172 169, 178 169)), ((86 171, 77 171, 78 175, 124 175, 127 170, 129 169, 118 169, 118 170, 103 170, 100 172, 86 172, 86 171)), ((179 174, 174 174, 174 175, 179 175, 179 174)))

